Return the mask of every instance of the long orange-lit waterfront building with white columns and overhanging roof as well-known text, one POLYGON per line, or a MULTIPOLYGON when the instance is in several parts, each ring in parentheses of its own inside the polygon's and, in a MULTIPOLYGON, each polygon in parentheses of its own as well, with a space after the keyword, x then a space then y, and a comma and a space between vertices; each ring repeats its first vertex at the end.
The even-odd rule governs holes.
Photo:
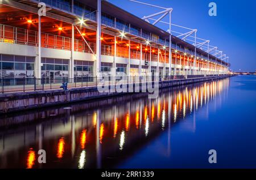
POLYGON ((108 1, 0 0, 0 77, 212 75, 229 66, 108 1))

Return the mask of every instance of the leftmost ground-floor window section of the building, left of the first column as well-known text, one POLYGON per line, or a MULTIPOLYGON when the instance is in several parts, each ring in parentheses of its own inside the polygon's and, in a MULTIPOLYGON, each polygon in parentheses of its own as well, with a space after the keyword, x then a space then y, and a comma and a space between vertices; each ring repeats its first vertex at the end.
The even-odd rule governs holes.
POLYGON ((0 77, 34 77, 35 57, 0 54, 0 77))

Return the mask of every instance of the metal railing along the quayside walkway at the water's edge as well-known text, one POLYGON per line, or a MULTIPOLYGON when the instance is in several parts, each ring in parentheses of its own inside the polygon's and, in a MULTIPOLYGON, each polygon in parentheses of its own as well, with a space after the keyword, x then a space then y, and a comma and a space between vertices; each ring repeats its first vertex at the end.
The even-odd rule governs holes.
MULTIPOLYGON (((158 77, 159 82, 164 82, 166 80, 183 80, 191 78, 203 78, 210 76, 224 76, 222 75, 171 75, 158 77)), ((227 76, 227 75, 226 75, 227 76)), ((61 89, 60 86, 64 82, 68 82, 68 88, 82 88, 82 87, 95 87, 102 80, 106 81, 106 84, 117 84, 122 80, 122 76, 117 77, 97 77, 97 76, 77 76, 75 78, 0 78, 0 92, 10 93, 10 92, 26 92, 26 91, 45 91, 49 89, 61 89)), ((156 79, 153 76, 130 76, 125 77, 126 83, 142 83, 142 82, 152 82, 156 79)))

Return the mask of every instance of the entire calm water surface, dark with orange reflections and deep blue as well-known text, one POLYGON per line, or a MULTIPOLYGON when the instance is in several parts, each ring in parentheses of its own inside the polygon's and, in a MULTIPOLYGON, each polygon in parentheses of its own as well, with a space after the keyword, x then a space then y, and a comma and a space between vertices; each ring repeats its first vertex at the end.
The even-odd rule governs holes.
POLYGON ((2 116, 0 168, 256 168, 255 103, 237 76, 2 116))

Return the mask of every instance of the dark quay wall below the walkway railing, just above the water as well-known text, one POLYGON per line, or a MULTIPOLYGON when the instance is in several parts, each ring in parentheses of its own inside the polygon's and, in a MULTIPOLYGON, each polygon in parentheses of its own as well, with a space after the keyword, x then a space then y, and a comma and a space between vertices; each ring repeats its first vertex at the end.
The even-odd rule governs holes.
MULTIPOLYGON (((222 79, 229 76, 214 76, 207 78, 193 78, 168 80, 159 82, 159 88, 175 87, 179 85, 205 82, 222 79)), ((142 84, 139 84, 142 87, 142 84)), ((20 110, 45 108, 47 106, 68 104, 78 101, 88 101, 98 98, 125 95, 127 93, 104 92, 100 93, 97 87, 73 88, 68 91, 61 89, 49 91, 20 92, 0 95, 0 114, 17 112, 20 110)))

